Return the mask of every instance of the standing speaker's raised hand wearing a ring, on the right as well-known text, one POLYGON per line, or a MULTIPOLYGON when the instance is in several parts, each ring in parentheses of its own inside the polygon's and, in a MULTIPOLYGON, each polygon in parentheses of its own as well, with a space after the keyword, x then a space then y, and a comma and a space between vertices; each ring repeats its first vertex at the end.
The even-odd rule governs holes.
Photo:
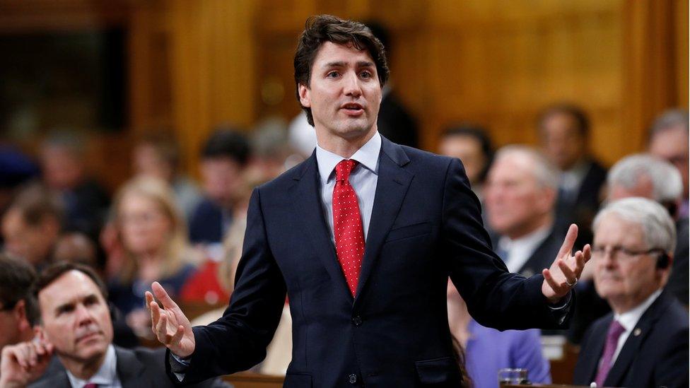
POLYGON ((589 244, 585 245, 583 250, 575 252, 575 255, 571 255, 577 238, 578 226, 572 224, 568 228, 566 239, 563 240, 561 250, 556 255, 551 268, 542 270, 542 275, 544 275, 542 293, 551 303, 557 303, 561 298, 568 295, 571 288, 578 283, 578 279, 585 269, 585 263, 592 257, 592 249, 589 244))

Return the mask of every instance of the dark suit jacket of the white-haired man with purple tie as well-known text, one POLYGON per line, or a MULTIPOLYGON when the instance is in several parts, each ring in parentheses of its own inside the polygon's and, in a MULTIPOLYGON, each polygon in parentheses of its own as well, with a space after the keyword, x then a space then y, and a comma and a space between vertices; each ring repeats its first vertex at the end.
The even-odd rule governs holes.
MULTIPOLYGON (((587 330, 575 366, 575 384, 594 381, 612 319, 610 313, 587 330)), ((628 336, 604 387, 688 387, 688 346, 688 312, 664 291, 628 336)))

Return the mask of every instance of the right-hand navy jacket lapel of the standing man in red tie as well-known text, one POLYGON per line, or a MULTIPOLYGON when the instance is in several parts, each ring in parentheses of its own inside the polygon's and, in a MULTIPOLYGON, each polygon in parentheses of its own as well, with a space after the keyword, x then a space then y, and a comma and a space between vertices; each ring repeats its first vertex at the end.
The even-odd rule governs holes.
POLYGON ((378 182, 369 221, 369 231, 366 238, 355 304, 361 298, 362 290, 375 266, 384 239, 397 217, 402 200, 407 193, 412 177, 414 177, 411 172, 403 168, 404 165, 409 163, 409 158, 402 147, 391 143, 384 137, 381 140, 378 182))

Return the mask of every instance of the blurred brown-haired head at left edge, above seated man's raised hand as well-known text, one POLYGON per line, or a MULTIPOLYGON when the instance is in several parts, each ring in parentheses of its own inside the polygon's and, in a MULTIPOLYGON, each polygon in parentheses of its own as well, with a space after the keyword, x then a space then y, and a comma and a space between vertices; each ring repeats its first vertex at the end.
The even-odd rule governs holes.
POLYGON ((33 266, 45 264, 62 228, 59 196, 34 184, 18 192, 2 217, 5 249, 33 266))

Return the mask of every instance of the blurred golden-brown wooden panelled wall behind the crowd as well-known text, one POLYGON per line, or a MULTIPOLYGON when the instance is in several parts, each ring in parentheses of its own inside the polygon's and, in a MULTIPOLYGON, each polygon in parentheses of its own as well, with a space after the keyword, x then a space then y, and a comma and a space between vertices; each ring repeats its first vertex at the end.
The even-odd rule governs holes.
MULTIPOLYGON (((317 13, 390 28, 392 85, 431 151, 460 121, 484 124, 499 146, 535 143, 537 112, 568 100, 590 113, 592 150, 611 164, 643 149, 655 114, 688 106, 682 0, 0 0, 0 33, 123 25, 128 127, 109 141, 123 149, 170 127, 194 174, 215 124, 299 112, 292 57, 317 13)), ((120 154, 96 165, 127 163, 120 154)))

